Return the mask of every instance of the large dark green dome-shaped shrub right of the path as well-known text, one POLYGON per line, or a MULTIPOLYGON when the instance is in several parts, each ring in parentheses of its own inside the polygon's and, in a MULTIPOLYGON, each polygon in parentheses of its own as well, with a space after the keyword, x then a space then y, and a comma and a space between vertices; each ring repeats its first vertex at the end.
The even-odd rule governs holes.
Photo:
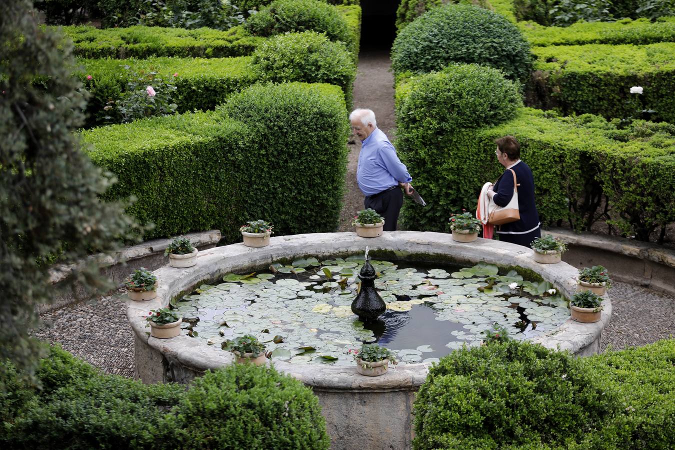
POLYGON ((394 72, 431 72, 450 63, 478 63, 524 80, 531 63, 529 45, 514 24, 473 5, 445 5, 427 11, 394 40, 394 72))

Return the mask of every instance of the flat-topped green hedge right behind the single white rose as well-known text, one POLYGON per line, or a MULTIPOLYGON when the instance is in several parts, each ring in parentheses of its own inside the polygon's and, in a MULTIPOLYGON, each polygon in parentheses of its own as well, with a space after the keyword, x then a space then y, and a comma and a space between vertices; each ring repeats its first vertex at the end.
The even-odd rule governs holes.
POLYGON ((617 118, 653 109, 655 118, 675 121, 675 43, 535 47, 533 53, 538 72, 529 82, 529 105, 617 118), (644 93, 630 94, 631 86, 644 93))

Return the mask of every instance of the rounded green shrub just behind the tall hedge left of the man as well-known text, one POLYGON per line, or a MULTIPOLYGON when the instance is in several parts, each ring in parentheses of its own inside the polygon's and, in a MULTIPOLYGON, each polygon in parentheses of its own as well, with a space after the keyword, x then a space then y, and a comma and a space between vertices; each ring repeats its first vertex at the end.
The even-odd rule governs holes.
POLYGON ((352 105, 356 66, 340 43, 317 32, 273 36, 253 54, 252 67, 259 78, 270 82, 301 81, 340 86, 347 105, 352 105))

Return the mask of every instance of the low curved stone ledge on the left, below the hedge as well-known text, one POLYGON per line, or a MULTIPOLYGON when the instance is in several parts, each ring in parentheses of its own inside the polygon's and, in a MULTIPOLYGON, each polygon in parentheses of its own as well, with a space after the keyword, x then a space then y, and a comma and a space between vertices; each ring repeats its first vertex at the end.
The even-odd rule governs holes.
MULTIPOLYGON (((185 236, 189 237, 192 244, 200 250, 213 248, 221 240, 221 232, 217 229, 188 233, 185 236)), ((166 264, 167 258, 164 256, 164 250, 170 243, 171 239, 149 240, 135 246, 121 248, 113 254, 95 254, 72 264, 54 266, 49 270, 49 282, 57 288, 55 291, 58 293, 53 296, 50 304, 39 305, 38 312, 51 311, 90 297, 87 289, 79 283, 76 283, 72 289, 58 289, 59 284, 63 283, 73 272, 81 270, 82 267, 88 264, 99 264, 101 273, 109 277, 115 285, 121 286, 126 276, 140 267, 155 270, 166 264)))

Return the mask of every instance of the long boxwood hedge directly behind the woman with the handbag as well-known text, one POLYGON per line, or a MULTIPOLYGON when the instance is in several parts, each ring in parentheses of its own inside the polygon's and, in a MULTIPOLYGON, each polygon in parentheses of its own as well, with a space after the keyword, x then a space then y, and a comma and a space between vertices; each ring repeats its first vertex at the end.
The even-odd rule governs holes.
POLYGON ((425 208, 404 203, 406 229, 449 232, 450 213, 474 208, 483 183, 502 173, 494 140, 506 134, 520 140, 522 159, 533 169, 544 225, 569 221, 574 229, 590 229, 597 219, 609 218, 601 205, 622 233, 639 240, 675 221, 675 125, 641 120, 624 125, 595 115, 556 117, 525 108, 492 128, 443 130, 442 123, 452 121, 448 115, 458 112, 443 113, 433 94, 410 107, 414 98, 424 98, 424 92, 410 94, 418 80, 403 80, 396 88, 397 115, 408 109, 412 117, 427 117, 397 117, 396 148, 428 203, 425 208), (439 125, 429 123, 434 120, 439 125))

